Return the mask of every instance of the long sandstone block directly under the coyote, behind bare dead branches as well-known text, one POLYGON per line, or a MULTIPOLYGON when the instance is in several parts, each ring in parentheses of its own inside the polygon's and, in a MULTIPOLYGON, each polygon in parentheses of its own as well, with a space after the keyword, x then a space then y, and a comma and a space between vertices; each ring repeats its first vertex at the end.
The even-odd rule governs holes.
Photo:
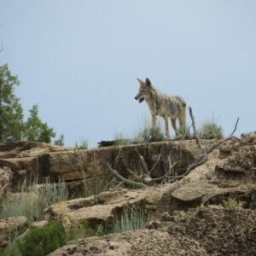
POLYGON ((139 154, 143 156, 150 170, 160 155, 160 161, 154 168, 153 177, 160 177, 168 167, 168 157, 178 161, 175 172, 182 173, 186 166, 195 160, 197 147, 194 140, 170 141, 161 143, 144 143, 116 147, 95 148, 90 150, 73 150, 65 154, 58 152, 49 154, 49 172, 52 176, 67 180, 108 176, 107 163, 110 163, 124 177, 129 170, 139 172, 142 163, 139 154))

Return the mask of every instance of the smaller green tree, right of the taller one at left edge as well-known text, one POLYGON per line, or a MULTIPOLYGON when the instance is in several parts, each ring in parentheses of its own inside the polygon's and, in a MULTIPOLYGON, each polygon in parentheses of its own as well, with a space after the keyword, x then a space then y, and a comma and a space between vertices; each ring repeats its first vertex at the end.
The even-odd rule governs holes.
POLYGON ((30 116, 25 123, 25 138, 31 142, 51 143, 55 131, 47 123, 42 122, 38 116, 38 105, 32 106, 30 116))

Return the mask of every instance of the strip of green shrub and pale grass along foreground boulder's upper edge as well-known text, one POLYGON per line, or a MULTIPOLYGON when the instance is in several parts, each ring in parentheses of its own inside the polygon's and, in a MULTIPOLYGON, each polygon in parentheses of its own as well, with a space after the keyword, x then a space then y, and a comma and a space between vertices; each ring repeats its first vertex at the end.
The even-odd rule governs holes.
POLYGON ((65 231, 60 221, 50 221, 43 227, 31 227, 24 235, 15 238, 0 250, 0 256, 44 256, 61 247, 67 241, 89 236, 137 230, 146 224, 144 207, 125 207, 120 216, 108 223, 84 224, 65 231))

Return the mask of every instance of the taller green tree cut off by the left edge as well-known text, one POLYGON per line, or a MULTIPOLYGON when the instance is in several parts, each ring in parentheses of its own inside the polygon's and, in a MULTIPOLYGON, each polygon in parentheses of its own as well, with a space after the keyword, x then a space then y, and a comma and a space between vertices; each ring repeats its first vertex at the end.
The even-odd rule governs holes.
POLYGON ((23 109, 20 98, 15 96, 17 76, 7 64, 0 66, 0 142, 20 140, 23 134, 23 109))

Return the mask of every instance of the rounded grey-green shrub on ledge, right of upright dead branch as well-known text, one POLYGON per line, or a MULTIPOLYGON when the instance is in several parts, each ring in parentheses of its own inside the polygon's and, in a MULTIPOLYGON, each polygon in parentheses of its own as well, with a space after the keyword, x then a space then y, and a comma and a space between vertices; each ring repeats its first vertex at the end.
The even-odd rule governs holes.
POLYGON ((214 121, 202 124, 198 133, 201 139, 219 139, 224 135, 222 126, 214 121))

